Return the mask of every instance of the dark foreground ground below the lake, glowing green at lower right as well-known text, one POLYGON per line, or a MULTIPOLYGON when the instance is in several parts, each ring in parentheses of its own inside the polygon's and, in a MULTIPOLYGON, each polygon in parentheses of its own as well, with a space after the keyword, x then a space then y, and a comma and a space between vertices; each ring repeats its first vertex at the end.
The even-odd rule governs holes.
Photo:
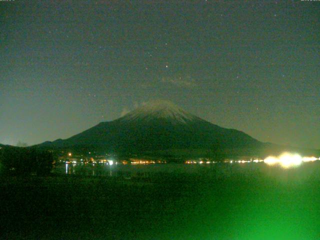
POLYGON ((0 178, 1 239, 319 239, 320 166, 0 178))

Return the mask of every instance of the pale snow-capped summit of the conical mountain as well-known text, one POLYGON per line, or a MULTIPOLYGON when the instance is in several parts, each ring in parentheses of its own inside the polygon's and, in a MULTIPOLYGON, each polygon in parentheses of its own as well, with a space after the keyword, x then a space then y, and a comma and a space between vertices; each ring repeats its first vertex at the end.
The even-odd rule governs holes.
POLYGON ((175 123, 186 123, 197 118, 172 102, 157 100, 145 103, 120 119, 124 121, 165 119, 175 123))

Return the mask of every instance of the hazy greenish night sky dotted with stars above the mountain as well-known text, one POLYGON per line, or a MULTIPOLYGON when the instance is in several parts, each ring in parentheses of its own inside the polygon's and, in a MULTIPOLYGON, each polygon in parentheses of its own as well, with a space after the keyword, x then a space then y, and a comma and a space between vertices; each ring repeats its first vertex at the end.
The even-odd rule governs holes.
POLYGON ((67 138, 165 99, 320 148, 320 1, 0 1, 0 143, 67 138))

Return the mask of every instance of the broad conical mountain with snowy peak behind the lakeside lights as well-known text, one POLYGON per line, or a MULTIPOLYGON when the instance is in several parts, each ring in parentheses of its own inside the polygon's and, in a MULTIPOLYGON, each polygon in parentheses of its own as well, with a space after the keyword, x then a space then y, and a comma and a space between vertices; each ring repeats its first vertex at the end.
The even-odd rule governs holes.
POLYGON ((43 142, 46 148, 95 150, 149 156, 257 156, 273 144, 242 131, 212 124, 166 101, 142 105, 126 115, 67 139, 43 142))

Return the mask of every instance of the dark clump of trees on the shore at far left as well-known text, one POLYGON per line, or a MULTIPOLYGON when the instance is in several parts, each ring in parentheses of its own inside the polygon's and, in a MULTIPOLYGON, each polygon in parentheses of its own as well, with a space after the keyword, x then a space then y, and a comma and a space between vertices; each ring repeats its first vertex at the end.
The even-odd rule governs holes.
POLYGON ((52 152, 27 147, 4 147, 0 150, 0 173, 47 175, 53 164, 52 152))

